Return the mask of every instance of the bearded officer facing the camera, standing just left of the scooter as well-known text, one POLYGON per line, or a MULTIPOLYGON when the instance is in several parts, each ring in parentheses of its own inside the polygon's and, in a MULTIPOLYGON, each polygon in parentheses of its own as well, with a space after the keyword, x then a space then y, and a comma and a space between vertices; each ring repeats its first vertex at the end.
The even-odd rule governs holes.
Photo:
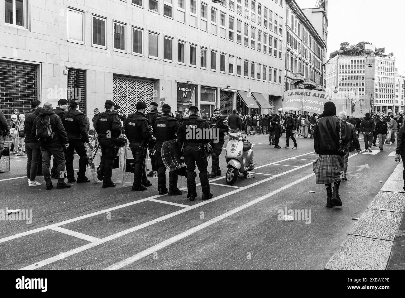
POLYGON ((224 125, 225 118, 221 115, 220 109, 214 110, 214 116, 209 121, 209 124, 213 130, 217 130, 216 133, 219 133, 219 141, 211 143, 212 146, 212 167, 211 174, 209 178, 215 178, 217 175, 221 176, 220 168, 220 155, 222 152, 222 147, 224 146, 224 132, 228 132, 228 126, 224 125))

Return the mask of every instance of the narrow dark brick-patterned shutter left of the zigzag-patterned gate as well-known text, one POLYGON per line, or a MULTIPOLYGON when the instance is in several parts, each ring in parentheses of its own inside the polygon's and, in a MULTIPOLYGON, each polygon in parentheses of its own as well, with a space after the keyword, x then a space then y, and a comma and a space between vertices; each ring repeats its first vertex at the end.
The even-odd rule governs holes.
POLYGON ((68 100, 75 100, 79 108, 86 109, 86 71, 81 69, 69 69, 68 72, 68 100))

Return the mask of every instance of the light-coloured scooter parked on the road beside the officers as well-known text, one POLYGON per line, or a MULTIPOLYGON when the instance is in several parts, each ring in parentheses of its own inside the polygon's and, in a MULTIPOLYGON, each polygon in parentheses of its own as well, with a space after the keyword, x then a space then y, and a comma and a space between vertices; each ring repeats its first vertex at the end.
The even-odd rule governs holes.
MULTIPOLYGON (((228 121, 225 120, 224 125, 228 126, 228 121)), ((225 150, 226 171, 225 180, 226 183, 232 185, 236 182, 239 174, 243 176, 253 177, 248 171, 253 171, 256 164, 253 163, 253 144, 247 141, 246 135, 243 137, 241 133, 231 133, 231 129, 228 126, 229 132, 224 135, 229 136, 228 144, 225 150)), ((256 131, 253 131, 249 135, 255 135, 256 131)))

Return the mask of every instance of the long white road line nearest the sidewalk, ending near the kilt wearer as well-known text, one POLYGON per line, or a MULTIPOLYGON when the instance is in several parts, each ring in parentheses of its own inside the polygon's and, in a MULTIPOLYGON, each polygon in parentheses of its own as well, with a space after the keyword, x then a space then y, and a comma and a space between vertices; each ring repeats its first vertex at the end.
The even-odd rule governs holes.
POLYGON ((222 219, 230 217, 231 215, 233 215, 233 214, 235 214, 235 213, 237 213, 237 212, 239 212, 241 210, 249 208, 250 206, 253 206, 254 204, 257 204, 257 203, 263 201, 264 199, 267 199, 267 198, 279 193, 280 191, 288 189, 289 187, 292 187, 292 186, 298 184, 299 182, 307 180, 308 178, 310 178, 310 177, 312 177, 314 175, 315 175, 315 173, 312 173, 312 174, 309 174, 309 175, 307 175, 307 176, 305 176, 305 177, 303 177, 301 179, 298 179, 298 180, 296 180, 294 182, 291 182, 290 184, 284 185, 283 187, 280 187, 279 189, 276 189, 275 191, 272 191, 271 193, 263 195, 262 197, 258 197, 257 199, 254 199, 254 200, 252 200, 252 201, 250 201, 250 202, 248 202, 248 203, 246 203, 246 204, 244 204, 242 206, 239 206, 239 207, 237 207, 237 208, 235 208, 233 210, 230 210, 230 211, 228 211, 228 212, 226 212, 224 214, 221 214, 220 216, 217 216, 217 217, 215 217, 215 218, 213 218, 213 219, 211 219, 211 220, 209 220, 209 221, 207 221, 205 223, 197 225, 196 227, 193 227, 193 228, 191 228, 191 229, 189 229, 189 230, 187 230, 187 231, 185 231, 185 232, 183 232, 183 233, 181 233, 179 235, 176 235, 176 236, 174 236, 172 238, 169 238, 169 239, 167 239, 167 240, 165 240, 163 242, 160 242, 159 244, 156 244, 153 247, 150 247, 149 249, 145 249, 144 251, 141 251, 140 253, 137 253, 136 255, 133 255, 132 257, 128 257, 127 259, 124 259, 124 260, 122 260, 120 262, 117 262, 117 263, 107 267, 107 268, 104 268, 103 270, 118 270, 120 268, 128 266, 129 264, 132 264, 132 263, 136 262, 137 260, 142 259, 143 257, 146 257, 147 255, 150 255, 151 253, 154 253, 155 251, 163 249, 164 247, 166 247, 166 246, 168 246, 170 244, 173 244, 173 243, 175 243, 175 242, 177 242, 177 241, 179 241, 179 240, 181 240, 181 239, 183 239, 183 238, 185 238, 187 236, 190 236, 190 235, 192 235, 192 234, 194 234, 194 233, 196 233, 196 232, 198 232, 198 231, 200 231, 200 230, 202 230, 202 229, 204 229, 204 228, 206 228, 206 227, 208 227, 208 226, 210 226, 210 225, 212 225, 214 223, 217 223, 218 221, 221 221, 222 219))

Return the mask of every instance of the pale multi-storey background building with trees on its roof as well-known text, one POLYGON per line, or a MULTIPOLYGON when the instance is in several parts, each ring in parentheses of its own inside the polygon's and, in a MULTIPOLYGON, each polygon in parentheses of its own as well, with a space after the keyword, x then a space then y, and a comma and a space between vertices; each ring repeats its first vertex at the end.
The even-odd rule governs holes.
POLYGON ((372 111, 392 114, 395 60, 381 54, 339 54, 326 66, 326 90, 371 94, 372 111))

